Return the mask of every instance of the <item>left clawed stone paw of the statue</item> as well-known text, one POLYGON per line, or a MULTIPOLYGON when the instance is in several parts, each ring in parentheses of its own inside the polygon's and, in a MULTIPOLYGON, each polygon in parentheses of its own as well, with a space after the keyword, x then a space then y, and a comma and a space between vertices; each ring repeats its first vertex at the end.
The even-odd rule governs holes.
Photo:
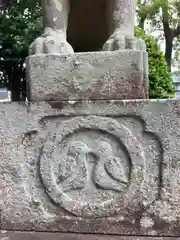
POLYGON ((48 53, 73 54, 74 50, 62 34, 54 31, 36 38, 29 47, 29 55, 48 53))

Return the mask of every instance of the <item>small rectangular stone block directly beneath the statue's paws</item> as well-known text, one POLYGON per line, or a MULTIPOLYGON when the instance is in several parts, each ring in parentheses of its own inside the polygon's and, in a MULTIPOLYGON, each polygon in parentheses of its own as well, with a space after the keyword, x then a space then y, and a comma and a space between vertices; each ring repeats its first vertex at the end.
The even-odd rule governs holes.
POLYGON ((147 53, 115 51, 34 55, 27 59, 30 100, 143 99, 147 53))

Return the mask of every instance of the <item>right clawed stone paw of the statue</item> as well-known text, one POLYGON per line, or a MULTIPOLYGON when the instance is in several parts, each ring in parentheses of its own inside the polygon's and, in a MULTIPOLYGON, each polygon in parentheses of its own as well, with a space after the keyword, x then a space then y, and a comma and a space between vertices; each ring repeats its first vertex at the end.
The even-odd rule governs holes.
POLYGON ((103 46, 103 51, 115 51, 120 49, 134 49, 146 51, 143 39, 127 36, 123 32, 114 32, 103 46))

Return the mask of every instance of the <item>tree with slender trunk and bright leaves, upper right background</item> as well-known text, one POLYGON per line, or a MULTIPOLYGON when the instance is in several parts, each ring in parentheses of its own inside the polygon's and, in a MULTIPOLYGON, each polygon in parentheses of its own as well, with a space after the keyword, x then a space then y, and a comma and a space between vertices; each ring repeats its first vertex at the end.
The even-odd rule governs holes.
POLYGON ((153 31, 163 33, 165 58, 169 71, 172 65, 172 52, 179 56, 177 45, 180 36, 180 0, 138 0, 139 27, 144 29, 145 21, 151 20, 153 31))

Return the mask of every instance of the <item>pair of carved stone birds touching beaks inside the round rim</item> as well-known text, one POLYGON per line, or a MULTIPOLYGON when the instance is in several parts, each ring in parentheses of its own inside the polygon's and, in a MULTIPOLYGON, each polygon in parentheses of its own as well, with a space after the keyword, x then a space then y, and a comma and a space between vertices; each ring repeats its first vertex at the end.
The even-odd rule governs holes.
POLYGON ((63 192, 83 189, 90 180, 94 187, 114 191, 122 191, 128 183, 121 159, 114 156, 111 145, 105 141, 99 142, 96 149, 80 141, 73 142, 59 164, 57 184, 63 192), (90 155, 94 161, 88 160, 90 155))

